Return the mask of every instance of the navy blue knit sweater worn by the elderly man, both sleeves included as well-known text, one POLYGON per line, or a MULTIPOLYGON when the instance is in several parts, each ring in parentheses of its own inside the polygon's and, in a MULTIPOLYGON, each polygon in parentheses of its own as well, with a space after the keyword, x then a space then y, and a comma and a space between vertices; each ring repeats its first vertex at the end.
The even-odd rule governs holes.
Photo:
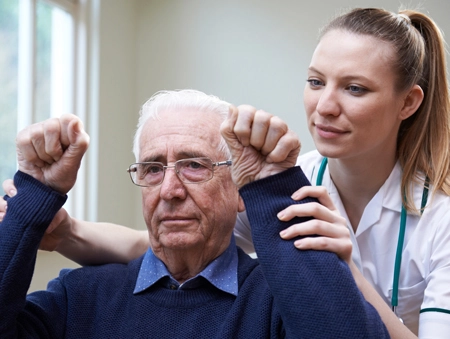
MULTIPOLYGON (((237 297, 209 283, 133 294, 142 258, 61 271, 26 296, 39 242, 65 197, 18 172, 0 224, 1 338, 387 338, 336 255, 298 251, 276 213, 308 184, 299 168, 241 189, 260 262, 240 249, 237 297)), ((299 220, 297 220, 299 221, 299 220)))

